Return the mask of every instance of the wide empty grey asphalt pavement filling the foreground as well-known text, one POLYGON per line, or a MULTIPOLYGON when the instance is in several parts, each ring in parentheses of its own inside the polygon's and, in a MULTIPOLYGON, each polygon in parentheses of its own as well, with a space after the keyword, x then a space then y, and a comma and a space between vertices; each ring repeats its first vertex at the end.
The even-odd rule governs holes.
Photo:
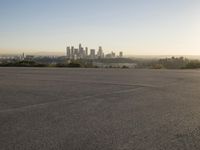
POLYGON ((1 150, 199 150, 200 71, 0 68, 1 150))

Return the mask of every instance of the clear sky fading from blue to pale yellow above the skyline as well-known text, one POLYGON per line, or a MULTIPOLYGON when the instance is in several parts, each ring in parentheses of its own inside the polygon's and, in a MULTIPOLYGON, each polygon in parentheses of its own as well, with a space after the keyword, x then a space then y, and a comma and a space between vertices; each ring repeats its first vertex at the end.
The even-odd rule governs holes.
POLYGON ((200 55, 200 0, 0 0, 0 53, 64 53, 66 43, 200 55))

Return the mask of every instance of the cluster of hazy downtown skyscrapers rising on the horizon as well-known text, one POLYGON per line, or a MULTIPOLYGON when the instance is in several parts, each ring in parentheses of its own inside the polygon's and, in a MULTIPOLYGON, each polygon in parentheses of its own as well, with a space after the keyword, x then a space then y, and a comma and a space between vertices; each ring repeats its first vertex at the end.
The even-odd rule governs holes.
POLYGON ((96 53, 95 49, 88 50, 88 47, 83 48, 81 44, 79 44, 78 48, 74 48, 74 46, 67 46, 66 48, 66 57, 68 59, 101 59, 101 58, 115 58, 115 57, 123 57, 123 52, 120 52, 118 56, 114 52, 110 54, 104 54, 103 49, 99 46, 99 49, 96 53))

